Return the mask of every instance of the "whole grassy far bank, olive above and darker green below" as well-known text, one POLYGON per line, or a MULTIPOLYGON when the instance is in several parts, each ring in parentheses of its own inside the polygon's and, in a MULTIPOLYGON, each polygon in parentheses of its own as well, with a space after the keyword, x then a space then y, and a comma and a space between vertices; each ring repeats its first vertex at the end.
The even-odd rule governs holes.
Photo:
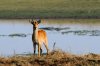
POLYGON ((100 0, 0 0, 0 18, 99 18, 100 0))

